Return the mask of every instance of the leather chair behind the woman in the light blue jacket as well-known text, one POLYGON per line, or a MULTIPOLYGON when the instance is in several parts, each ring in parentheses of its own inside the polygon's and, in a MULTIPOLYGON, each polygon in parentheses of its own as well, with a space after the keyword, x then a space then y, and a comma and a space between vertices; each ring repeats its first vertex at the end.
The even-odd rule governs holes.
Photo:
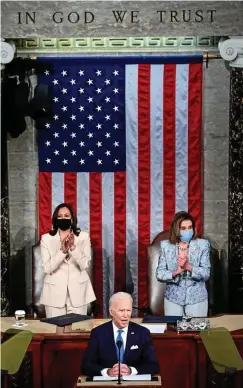
MULTIPOLYGON (((148 250, 148 302, 150 311, 153 315, 164 315, 164 293, 166 283, 158 282, 156 279, 156 268, 158 266, 159 255, 160 255, 160 241, 168 240, 169 231, 160 232, 152 244, 147 247, 148 250)), ((218 313, 217 310, 217 289, 216 285, 219 284, 220 274, 217 268, 219 267, 219 253, 218 250, 211 247, 210 252, 211 261, 211 275, 208 280, 208 300, 209 300, 209 315, 218 313), (217 275, 217 276, 216 276, 217 275)), ((139 308, 142 311, 141 308, 139 308)))

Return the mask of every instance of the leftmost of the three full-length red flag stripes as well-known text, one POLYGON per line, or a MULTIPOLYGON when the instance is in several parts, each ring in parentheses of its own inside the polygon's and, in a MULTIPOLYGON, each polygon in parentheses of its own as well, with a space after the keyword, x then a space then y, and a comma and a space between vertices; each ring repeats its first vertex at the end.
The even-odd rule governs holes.
POLYGON ((138 66, 138 306, 147 305, 150 243, 150 65, 138 66))

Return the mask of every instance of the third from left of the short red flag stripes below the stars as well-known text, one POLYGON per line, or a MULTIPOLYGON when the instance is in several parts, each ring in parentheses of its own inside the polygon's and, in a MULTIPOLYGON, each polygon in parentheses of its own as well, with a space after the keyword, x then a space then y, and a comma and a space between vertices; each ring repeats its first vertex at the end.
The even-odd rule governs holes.
POLYGON ((98 307, 97 316, 103 316, 103 262, 102 262, 102 174, 89 174, 90 238, 94 255, 93 286, 98 307))

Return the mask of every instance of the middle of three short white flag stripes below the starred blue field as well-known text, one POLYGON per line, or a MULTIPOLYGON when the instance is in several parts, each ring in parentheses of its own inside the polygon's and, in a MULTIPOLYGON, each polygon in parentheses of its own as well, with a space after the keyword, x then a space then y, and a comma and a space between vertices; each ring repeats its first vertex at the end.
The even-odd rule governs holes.
POLYGON ((77 218, 82 230, 89 233, 89 173, 77 174, 77 218))

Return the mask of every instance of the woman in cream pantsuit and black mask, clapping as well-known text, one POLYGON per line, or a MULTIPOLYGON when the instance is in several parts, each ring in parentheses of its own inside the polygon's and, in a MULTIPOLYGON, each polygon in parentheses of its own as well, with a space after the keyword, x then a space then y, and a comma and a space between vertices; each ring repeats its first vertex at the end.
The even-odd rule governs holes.
POLYGON ((52 225, 53 229, 41 237, 45 279, 40 302, 47 318, 85 315, 88 303, 96 299, 86 272, 91 260, 89 235, 77 229, 72 207, 65 203, 55 209, 52 225))

